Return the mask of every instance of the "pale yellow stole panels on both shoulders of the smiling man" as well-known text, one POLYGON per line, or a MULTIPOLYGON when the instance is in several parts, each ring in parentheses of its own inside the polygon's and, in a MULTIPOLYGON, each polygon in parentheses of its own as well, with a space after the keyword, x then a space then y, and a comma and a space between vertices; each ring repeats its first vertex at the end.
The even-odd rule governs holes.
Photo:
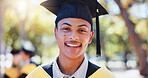
MULTIPOLYGON (((26 78, 51 78, 51 77, 41 66, 38 66, 26 78)), ((115 76, 106 67, 101 67, 88 78, 115 78, 115 76)))

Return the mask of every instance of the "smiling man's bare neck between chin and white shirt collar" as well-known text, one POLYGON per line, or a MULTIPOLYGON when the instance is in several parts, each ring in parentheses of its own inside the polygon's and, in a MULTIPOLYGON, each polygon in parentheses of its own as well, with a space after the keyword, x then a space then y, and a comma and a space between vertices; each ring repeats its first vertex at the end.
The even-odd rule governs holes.
POLYGON ((77 71, 83 60, 84 55, 74 59, 59 55, 57 63, 62 73, 71 76, 77 71))

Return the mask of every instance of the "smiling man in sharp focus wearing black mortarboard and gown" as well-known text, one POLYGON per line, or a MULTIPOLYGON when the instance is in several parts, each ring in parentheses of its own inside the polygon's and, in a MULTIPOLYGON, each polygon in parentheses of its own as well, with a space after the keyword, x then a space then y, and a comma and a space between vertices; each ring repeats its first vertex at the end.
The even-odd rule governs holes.
POLYGON ((94 35, 92 17, 107 14, 97 0, 48 0, 41 5, 57 15, 54 32, 60 52, 51 65, 39 66, 27 78, 114 78, 84 56, 94 35))

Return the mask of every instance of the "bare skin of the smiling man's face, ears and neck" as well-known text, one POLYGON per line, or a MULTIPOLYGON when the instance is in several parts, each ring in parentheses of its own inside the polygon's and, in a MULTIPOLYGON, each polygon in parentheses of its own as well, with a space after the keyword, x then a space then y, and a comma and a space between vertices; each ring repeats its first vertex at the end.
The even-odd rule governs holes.
POLYGON ((62 73, 72 75, 84 60, 84 52, 91 43, 94 32, 86 20, 65 18, 54 29, 60 49, 58 65, 62 73))

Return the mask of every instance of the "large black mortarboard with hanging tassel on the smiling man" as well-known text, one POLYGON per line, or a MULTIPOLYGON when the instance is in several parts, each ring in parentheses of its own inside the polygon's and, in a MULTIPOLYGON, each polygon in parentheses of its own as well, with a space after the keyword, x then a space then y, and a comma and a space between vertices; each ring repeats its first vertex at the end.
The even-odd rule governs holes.
POLYGON ((92 18, 96 17, 96 54, 101 55, 98 16, 108 14, 108 12, 97 0, 47 0, 41 5, 57 15, 56 26, 64 18, 81 18, 88 21, 93 30, 92 18))

